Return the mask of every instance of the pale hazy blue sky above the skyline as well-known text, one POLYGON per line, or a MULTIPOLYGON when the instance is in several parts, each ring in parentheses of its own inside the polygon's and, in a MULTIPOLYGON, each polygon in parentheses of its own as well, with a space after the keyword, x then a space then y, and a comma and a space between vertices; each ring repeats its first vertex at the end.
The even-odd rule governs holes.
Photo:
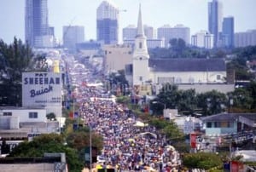
MULTIPOLYGON (((139 4, 143 24, 160 26, 183 24, 190 35, 207 30, 207 3, 210 0, 111 0, 120 10, 119 37, 122 28, 137 25, 139 4), (123 11, 123 10, 126 10, 123 11)), ((235 32, 256 29, 256 0, 219 0, 223 15, 234 16, 235 32)), ((102 0, 48 0, 49 26, 61 39, 62 26, 84 26, 85 40, 96 39, 96 9, 102 0)), ((0 0, 0 39, 12 43, 14 37, 24 41, 25 0, 0 0)))

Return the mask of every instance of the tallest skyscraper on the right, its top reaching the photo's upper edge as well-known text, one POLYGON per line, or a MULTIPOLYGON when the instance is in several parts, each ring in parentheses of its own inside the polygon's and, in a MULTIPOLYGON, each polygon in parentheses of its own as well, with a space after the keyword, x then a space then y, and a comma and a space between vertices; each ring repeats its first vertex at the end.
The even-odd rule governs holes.
POLYGON ((214 36, 214 47, 219 43, 219 32, 222 30, 222 3, 212 0, 208 3, 208 31, 214 36))

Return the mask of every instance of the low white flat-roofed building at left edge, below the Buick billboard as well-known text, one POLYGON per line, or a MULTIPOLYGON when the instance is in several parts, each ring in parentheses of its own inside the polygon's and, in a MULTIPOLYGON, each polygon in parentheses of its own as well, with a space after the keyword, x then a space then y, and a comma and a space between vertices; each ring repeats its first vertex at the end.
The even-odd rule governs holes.
POLYGON ((40 134, 60 133, 60 123, 49 121, 46 114, 43 106, 2 106, 0 107, 0 137, 6 140, 29 140, 40 134))

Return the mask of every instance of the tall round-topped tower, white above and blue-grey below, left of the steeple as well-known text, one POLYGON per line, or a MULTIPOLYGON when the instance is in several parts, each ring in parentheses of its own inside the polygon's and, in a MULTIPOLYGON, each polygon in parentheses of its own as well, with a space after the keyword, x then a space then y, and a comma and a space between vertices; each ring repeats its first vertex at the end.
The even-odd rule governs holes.
POLYGON ((112 2, 103 1, 96 10, 97 41, 103 44, 119 42, 119 9, 112 2))

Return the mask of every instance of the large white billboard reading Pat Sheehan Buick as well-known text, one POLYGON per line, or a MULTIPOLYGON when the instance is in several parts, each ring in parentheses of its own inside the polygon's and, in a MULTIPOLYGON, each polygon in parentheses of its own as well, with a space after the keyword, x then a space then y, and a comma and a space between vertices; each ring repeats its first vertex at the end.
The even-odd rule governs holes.
POLYGON ((61 106, 61 73, 23 72, 22 106, 61 106))

